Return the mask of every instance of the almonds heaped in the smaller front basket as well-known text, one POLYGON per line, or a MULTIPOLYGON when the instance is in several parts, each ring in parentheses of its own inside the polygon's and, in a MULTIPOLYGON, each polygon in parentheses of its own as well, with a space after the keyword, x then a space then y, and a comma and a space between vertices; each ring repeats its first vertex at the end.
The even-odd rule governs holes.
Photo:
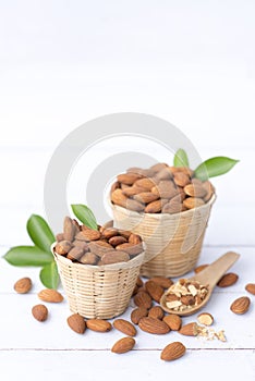
POLYGON ((57 235, 54 251, 83 265, 127 262, 144 250, 139 235, 116 228, 93 230, 65 217, 63 233, 57 235))

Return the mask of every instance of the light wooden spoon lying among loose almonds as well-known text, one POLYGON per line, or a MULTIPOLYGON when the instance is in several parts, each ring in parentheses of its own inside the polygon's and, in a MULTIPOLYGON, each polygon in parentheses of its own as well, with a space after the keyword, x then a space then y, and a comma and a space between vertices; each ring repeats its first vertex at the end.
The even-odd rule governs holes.
POLYGON ((169 314, 179 315, 179 316, 189 316, 197 312, 201 308, 203 308, 207 304, 220 278, 239 259, 239 257, 240 257, 240 254, 236 254, 233 251, 226 253, 216 261, 214 261, 211 265, 207 266, 205 270, 201 271, 195 276, 189 278, 189 280, 191 281, 197 281, 203 285, 208 285, 208 293, 205 299, 199 305, 183 311, 174 311, 173 309, 169 309, 166 305, 166 296, 168 293, 166 292, 160 299, 160 305, 162 309, 169 314))

